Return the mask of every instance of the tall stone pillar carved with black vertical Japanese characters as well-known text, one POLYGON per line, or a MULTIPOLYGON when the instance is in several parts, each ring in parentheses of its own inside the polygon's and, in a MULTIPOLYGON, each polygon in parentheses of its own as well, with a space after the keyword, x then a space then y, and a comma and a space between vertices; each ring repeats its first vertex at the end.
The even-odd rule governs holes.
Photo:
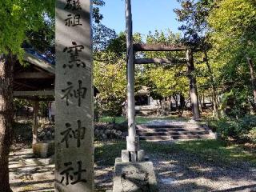
POLYGON ((94 191, 90 0, 56 0, 55 191, 94 191))

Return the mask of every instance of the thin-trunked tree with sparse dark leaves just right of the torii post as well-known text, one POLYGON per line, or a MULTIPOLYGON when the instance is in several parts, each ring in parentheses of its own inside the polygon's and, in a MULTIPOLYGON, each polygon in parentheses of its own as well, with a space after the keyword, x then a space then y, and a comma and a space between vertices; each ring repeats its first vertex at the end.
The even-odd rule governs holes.
MULTIPOLYGON (((178 0, 178 2, 181 4, 181 8, 175 9, 174 12, 178 16, 178 21, 182 22, 182 26, 179 27, 179 30, 182 30, 184 34, 182 41, 188 46, 202 50, 202 54, 196 54, 196 56, 197 58, 201 58, 202 61, 206 63, 208 70, 207 73, 203 72, 203 74, 207 74, 209 77, 210 85, 206 81, 205 85, 202 84, 203 81, 199 81, 198 90, 201 90, 201 93, 204 94, 203 92, 205 91, 203 90, 206 90, 206 88, 208 89, 209 86, 211 87, 211 95, 214 103, 214 117, 218 118, 217 85, 214 80, 213 70, 209 62, 208 50, 210 49, 210 43, 207 36, 207 34, 209 34, 207 17, 210 14, 210 10, 212 10, 215 1, 178 0), (200 87, 204 89, 202 90, 200 87)), ((202 68, 202 66, 200 66, 200 68, 202 68)), ((202 71, 199 74, 202 74, 202 71)), ((198 79, 200 80, 200 78, 198 79)))

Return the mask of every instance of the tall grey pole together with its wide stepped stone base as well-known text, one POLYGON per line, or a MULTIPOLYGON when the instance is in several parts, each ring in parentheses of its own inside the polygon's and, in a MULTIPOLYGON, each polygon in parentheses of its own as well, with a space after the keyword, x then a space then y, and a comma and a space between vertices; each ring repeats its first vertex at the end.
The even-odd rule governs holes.
POLYGON ((127 90, 128 90, 128 137, 127 149, 122 158, 114 163, 113 192, 151 191, 157 192, 157 180, 152 162, 145 162, 144 151, 139 150, 135 130, 134 108, 134 49, 130 0, 126 0, 126 46, 127 46, 127 90))

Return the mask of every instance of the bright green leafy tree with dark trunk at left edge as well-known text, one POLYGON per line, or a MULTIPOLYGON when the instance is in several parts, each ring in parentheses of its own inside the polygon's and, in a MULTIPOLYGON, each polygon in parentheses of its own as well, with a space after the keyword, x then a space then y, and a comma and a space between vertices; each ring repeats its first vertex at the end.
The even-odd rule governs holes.
POLYGON ((8 155, 13 123, 13 65, 22 62, 22 43, 29 30, 42 28, 54 17, 54 1, 3 0, 0 2, 0 191, 9 192, 8 155))

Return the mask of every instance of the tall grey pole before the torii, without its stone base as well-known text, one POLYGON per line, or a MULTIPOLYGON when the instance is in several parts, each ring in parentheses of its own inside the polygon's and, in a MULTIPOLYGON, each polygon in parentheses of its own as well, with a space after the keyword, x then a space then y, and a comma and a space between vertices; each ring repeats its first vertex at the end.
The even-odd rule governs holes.
POLYGON ((129 151, 130 161, 136 162, 136 152, 138 151, 138 137, 135 130, 135 101, 134 101, 134 48, 133 48, 133 29, 130 0, 126 0, 126 49, 127 49, 127 114, 128 114, 128 137, 127 150, 129 151))

